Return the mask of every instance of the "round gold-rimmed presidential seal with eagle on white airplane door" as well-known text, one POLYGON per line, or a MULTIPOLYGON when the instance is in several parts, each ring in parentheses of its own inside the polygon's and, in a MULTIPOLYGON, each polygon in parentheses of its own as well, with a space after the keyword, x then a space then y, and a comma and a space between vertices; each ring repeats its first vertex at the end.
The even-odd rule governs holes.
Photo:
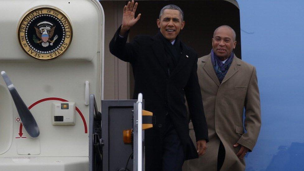
POLYGON ((31 57, 40 60, 55 59, 71 43, 71 22, 55 7, 38 7, 21 18, 18 39, 22 49, 31 57))

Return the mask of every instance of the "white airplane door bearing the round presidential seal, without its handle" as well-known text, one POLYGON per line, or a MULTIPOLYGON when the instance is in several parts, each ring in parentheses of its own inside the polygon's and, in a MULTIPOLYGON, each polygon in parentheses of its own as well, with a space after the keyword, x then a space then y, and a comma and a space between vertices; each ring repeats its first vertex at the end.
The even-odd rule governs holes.
MULTIPOLYGON (((0 78, 0 170, 88 170, 89 94, 103 99, 97 0, 0 2, 0 70, 39 127, 32 138, 0 78)), ((18 105, 17 105, 18 106, 18 105)))

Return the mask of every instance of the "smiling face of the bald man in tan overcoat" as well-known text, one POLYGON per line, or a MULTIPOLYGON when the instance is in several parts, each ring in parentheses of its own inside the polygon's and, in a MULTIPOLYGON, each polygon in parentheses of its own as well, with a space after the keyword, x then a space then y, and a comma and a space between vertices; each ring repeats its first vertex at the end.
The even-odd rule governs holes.
POLYGON ((228 59, 236 45, 234 39, 233 31, 230 28, 218 28, 212 38, 212 49, 216 56, 221 60, 228 59))

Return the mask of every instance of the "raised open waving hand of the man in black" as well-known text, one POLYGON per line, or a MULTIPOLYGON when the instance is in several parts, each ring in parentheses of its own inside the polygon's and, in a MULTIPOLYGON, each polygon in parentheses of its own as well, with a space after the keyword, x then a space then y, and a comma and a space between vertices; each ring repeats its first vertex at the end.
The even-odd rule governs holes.
POLYGON ((122 26, 120 30, 120 35, 124 36, 126 31, 128 31, 134 24, 140 19, 140 15, 138 14, 135 18, 135 11, 137 8, 138 3, 136 2, 134 4, 134 1, 128 2, 127 5, 125 5, 123 10, 123 17, 122 17, 122 26))

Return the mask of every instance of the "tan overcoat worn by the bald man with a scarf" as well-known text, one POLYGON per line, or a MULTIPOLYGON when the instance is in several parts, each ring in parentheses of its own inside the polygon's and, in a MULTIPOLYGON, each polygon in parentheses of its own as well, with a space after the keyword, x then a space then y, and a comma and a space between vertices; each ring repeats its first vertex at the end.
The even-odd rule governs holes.
MULTIPOLYGON (((233 145, 237 142, 251 151, 259 135, 261 111, 255 67, 234 56, 220 84, 210 54, 199 58, 197 66, 209 142, 206 154, 198 159, 185 161, 183 171, 216 171, 220 140, 226 151, 221 171, 245 170, 245 161, 236 156, 240 146, 235 148, 233 145)), ((195 142, 191 122, 189 128, 190 136, 195 142)))

